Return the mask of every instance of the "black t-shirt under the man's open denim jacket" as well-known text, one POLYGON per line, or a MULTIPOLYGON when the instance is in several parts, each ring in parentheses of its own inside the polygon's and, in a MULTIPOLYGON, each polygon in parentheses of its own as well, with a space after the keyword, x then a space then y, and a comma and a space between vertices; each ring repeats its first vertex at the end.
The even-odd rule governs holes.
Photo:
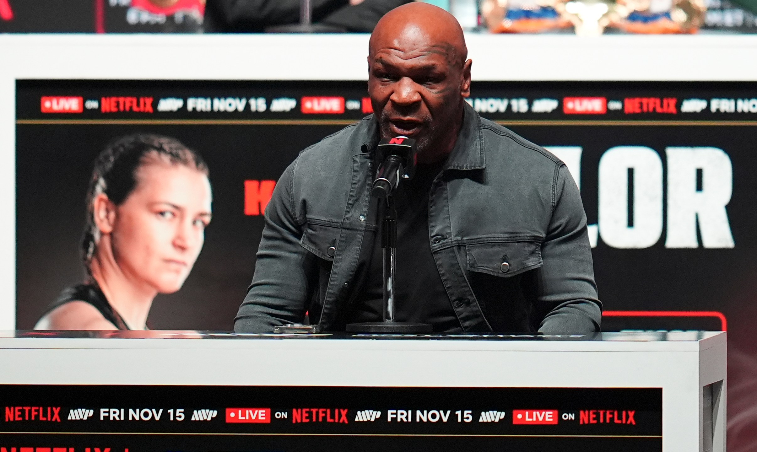
MULTIPOLYGON (((435 332, 462 332, 441 282, 428 238, 428 195, 444 161, 418 165, 413 179, 394 192, 397 208, 397 311, 400 322, 430 323, 435 332)), ((379 229, 382 218, 377 219, 379 229)), ((383 320, 384 273, 381 231, 376 235, 368 275, 350 306, 347 323, 383 320)))

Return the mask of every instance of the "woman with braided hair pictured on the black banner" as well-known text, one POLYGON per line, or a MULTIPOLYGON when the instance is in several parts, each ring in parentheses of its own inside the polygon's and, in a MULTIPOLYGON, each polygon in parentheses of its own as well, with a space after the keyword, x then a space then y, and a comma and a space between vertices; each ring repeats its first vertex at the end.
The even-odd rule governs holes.
POLYGON ((176 139, 135 134, 95 160, 82 239, 83 284, 35 329, 146 329, 152 301, 179 290, 210 223, 207 165, 176 139))

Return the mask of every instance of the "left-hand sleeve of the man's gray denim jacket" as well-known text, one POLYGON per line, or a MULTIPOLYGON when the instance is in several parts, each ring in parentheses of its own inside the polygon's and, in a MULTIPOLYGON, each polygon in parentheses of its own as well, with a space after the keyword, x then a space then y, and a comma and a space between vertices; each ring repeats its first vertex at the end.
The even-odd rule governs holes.
POLYGON ((266 206, 255 274, 239 307, 235 332, 273 332, 273 326, 304 321, 317 267, 313 254, 300 245, 304 222, 298 222, 292 201, 297 163, 276 183, 266 206))

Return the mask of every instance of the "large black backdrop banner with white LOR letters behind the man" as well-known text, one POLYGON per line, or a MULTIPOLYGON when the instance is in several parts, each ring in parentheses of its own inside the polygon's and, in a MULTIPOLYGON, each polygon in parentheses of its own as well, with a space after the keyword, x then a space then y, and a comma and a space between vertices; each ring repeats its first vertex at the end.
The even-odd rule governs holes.
MULTIPOLYGON (((727 329, 731 383, 751 394, 731 392, 729 410, 755 404, 754 84, 476 82, 469 101, 569 166, 603 329, 727 329)), ((159 295, 149 322, 232 329, 275 181, 299 151, 369 113, 365 82, 18 81, 17 327, 82 280, 95 156, 116 136, 153 132, 204 156, 213 223, 183 288, 159 295)), ((729 442, 754 422, 738 419, 729 442)))

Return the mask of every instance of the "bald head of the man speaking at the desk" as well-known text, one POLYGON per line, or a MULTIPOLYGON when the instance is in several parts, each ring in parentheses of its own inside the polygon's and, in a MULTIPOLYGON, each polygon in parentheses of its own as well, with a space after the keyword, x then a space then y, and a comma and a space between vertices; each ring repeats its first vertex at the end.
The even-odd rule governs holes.
POLYGON ((446 157, 470 94, 466 58, 463 30, 441 8, 413 2, 382 17, 368 55, 368 94, 382 138, 416 139, 420 163, 446 157))

